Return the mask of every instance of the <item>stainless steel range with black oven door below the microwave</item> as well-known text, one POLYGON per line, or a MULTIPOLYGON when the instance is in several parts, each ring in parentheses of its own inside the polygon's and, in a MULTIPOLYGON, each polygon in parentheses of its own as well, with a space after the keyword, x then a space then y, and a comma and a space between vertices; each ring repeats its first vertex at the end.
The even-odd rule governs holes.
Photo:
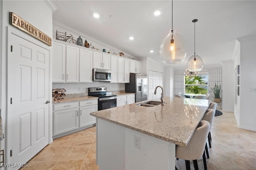
POLYGON ((88 88, 88 96, 98 97, 98 110, 116 107, 116 95, 107 94, 106 87, 88 88))

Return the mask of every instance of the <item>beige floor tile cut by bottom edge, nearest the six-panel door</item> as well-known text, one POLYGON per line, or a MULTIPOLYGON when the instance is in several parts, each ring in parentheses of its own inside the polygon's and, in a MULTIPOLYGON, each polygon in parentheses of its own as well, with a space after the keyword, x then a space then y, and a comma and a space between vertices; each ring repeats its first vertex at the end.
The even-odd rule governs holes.
POLYGON ((24 170, 51 170, 57 161, 29 162, 24 170))

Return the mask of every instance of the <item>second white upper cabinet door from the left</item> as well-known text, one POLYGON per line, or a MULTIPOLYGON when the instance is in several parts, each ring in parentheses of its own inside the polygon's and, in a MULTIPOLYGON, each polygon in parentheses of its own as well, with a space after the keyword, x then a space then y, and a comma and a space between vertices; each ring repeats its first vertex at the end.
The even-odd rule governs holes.
POLYGON ((78 82, 79 48, 66 46, 66 82, 78 82))

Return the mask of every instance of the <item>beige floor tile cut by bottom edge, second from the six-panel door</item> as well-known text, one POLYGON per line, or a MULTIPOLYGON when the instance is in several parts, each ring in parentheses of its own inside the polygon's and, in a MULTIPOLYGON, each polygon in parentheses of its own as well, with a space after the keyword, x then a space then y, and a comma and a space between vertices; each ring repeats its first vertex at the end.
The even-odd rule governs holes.
POLYGON ((84 160, 60 160, 52 170, 80 170, 84 160))

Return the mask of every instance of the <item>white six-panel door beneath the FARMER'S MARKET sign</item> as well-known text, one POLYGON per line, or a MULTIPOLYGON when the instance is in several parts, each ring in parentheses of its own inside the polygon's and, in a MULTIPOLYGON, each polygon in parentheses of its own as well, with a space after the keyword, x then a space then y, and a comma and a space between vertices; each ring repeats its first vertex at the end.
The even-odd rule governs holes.
POLYGON ((10 37, 6 152, 8 163, 26 163, 49 143, 50 51, 14 34, 10 37))

